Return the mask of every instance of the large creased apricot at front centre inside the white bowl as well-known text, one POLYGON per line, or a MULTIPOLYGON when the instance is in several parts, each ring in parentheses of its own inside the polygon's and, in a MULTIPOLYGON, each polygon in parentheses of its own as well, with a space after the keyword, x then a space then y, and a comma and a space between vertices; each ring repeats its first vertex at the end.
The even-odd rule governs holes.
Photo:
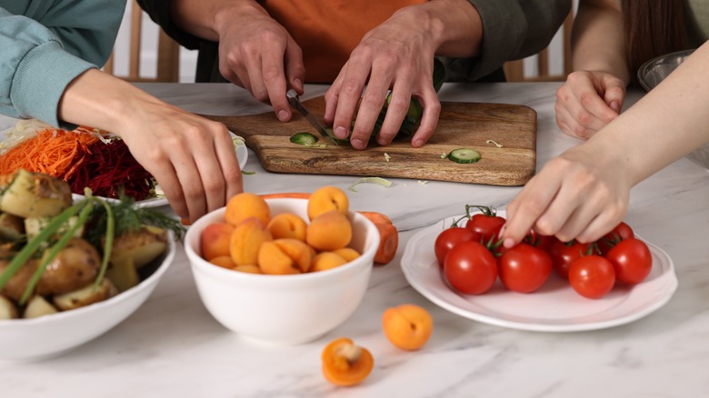
POLYGON ((311 248, 293 238, 276 239, 261 244, 258 265, 264 274, 302 274, 308 272, 313 260, 311 248))

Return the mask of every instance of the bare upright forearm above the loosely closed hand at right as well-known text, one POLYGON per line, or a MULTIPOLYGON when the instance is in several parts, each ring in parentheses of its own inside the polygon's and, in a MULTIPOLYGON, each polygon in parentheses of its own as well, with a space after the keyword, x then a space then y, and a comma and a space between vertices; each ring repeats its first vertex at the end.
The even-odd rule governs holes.
POLYGON ((614 0, 582 1, 572 35, 574 70, 604 71, 630 82, 623 15, 614 0))

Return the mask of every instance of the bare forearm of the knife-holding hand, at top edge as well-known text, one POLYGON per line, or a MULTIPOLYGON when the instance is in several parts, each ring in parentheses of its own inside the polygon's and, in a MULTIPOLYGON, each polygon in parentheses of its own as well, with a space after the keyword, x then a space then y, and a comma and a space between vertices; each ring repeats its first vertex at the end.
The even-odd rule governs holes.
POLYGON ((185 32, 217 42, 225 25, 236 23, 235 15, 248 18, 268 13, 255 0, 175 0, 170 4, 170 15, 185 32))

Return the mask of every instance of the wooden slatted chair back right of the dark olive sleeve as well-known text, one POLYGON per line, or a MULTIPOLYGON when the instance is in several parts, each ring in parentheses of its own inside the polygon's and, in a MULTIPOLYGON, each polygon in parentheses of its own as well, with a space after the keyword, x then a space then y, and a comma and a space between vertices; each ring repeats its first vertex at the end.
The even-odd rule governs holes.
POLYGON ((557 75, 551 75, 549 72, 549 48, 544 48, 536 55, 537 75, 524 75, 524 59, 510 61, 504 64, 504 75, 508 82, 564 82, 566 76, 574 71, 574 65, 571 59, 571 29, 574 25, 574 10, 566 16, 564 25, 562 25, 563 34, 563 72, 557 75))

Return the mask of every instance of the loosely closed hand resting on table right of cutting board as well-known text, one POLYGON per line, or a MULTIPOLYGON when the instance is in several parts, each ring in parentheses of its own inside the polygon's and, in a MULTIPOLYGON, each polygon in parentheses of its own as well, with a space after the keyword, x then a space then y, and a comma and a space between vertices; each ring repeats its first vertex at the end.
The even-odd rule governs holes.
POLYGON ((556 124, 565 133, 588 139, 620 114, 625 84, 601 71, 576 71, 556 91, 556 124))

